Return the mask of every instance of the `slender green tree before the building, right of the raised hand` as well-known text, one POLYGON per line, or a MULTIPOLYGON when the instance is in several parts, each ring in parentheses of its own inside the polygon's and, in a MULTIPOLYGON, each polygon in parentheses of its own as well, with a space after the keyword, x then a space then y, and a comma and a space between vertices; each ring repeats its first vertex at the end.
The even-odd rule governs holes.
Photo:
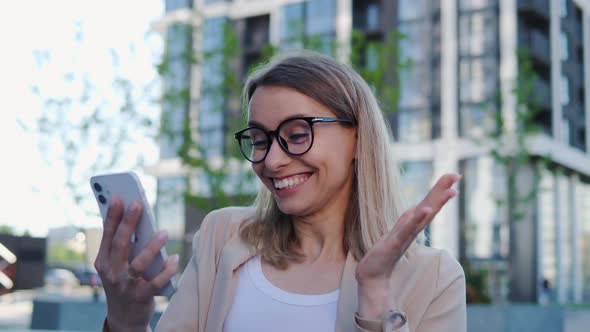
MULTIPOLYGON (((487 106, 487 118, 490 119, 490 126, 486 127, 481 137, 472 137, 474 142, 488 149, 496 165, 503 174, 503 187, 505 192, 492 194, 498 211, 502 214, 498 217, 501 222, 508 226, 509 257, 506 264, 506 272, 509 278, 509 294, 513 301, 530 301, 530 298, 519 294, 517 290, 522 288, 516 273, 516 269, 522 264, 517 256, 522 250, 518 247, 519 239, 516 234, 523 232, 527 215, 533 208, 533 203, 539 192, 540 175, 538 170, 547 167, 550 157, 535 156, 529 148, 528 139, 542 131, 538 119, 541 114, 539 96, 535 94, 535 87, 538 84, 539 76, 535 71, 532 59, 526 49, 519 49, 517 54, 518 72, 512 86, 512 95, 515 99, 514 126, 509 127, 504 122, 504 116, 499 111, 503 105, 501 94, 487 106), (527 172, 529 171, 529 172, 527 172), (530 174, 529 183, 526 174, 530 174), (523 183, 525 185, 523 185, 523 183)), ((461 242, 465 243, 467 234, 465 225, 461 227, 461 242)), ((487 284, 482 279, 488 279, 489 273, 496 275, 494 264, 487 267, 474 266, 466 257, 465 249, 460 253, 467 277, 467 287, 471 289, 474 301, 486 302, 487 284)), ((534 287, 534 283, 533 283, 534 287)))

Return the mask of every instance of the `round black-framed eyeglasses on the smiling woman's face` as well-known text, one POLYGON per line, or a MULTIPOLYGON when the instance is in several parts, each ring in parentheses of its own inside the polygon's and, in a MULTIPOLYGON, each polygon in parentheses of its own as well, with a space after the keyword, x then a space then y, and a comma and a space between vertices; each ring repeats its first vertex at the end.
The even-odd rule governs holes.
POLYGON ((353 124, 351 120, 346 119, 298 117, 281 122, 276 130, 268 131, 252 126, 238 131, 234 136, 244 157, 250 162, 259 163, 270 151, 273 138, 277 139, 283 151, 292 156, 309 151, 313 145, 313 125, 317 122, 353 124))

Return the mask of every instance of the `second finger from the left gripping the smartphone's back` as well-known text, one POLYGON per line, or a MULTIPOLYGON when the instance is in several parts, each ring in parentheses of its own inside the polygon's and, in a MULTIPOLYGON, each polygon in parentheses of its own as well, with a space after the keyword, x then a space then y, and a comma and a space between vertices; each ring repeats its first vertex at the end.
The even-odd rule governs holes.
POLYGON ((141 218, 141 205, 133 202, 125 211, 123 220, 117 227, 113 237, 112 250, 110 255, 111 264, 121 267, 127 264, 129 247, 131 245, 131 234, 141 218))

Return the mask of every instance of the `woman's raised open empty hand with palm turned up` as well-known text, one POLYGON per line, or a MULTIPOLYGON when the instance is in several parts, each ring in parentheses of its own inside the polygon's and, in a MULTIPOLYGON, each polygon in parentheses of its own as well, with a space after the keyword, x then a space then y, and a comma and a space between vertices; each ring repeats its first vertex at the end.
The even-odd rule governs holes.
POLYGON ((418 234, 434 219, 457 191, 451 187, 461 177, 445 174, 414 208, 405 211, 387 234, 366 253, 356 269, 359 284, 359 314, 376 318, 384 311, 391 273, 418 234))

